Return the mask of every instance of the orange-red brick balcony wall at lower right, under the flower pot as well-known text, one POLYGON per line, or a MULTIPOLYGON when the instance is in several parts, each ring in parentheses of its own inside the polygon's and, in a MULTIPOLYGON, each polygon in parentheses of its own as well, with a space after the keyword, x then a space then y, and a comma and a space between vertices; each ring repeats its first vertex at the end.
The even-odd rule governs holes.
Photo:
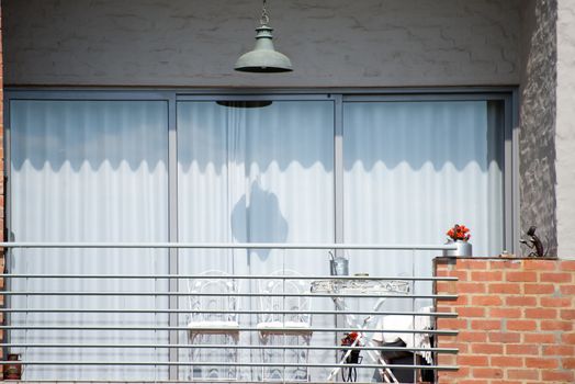
POLYGON ((440 372, 440 383, 575 383, 575 261, 439 258, 436 274, 459 278, 436 284, 459 294, 437 303, 459 314, 438 320, 459 330, 438 346, 460 349, 439 358, 460 366, 440 372))

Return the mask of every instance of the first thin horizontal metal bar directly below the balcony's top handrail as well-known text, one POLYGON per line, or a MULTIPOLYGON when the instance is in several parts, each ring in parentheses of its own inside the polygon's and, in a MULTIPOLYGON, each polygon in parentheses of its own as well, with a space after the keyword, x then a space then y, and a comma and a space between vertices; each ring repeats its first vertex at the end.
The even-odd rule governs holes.
POLYGON ((0 273, 2 279, 198 279, 198 280, 384 280, 384 281, 458 281, 453 276, 320 276, 320 275, 208 275, 208 274, 11 274, 0 273))

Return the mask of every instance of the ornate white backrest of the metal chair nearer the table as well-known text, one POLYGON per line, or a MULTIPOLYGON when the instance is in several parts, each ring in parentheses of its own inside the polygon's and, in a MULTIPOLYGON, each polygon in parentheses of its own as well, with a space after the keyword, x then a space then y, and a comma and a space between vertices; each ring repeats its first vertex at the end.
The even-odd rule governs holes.
POLYGON ((291 321, 311 325, 311 297, 282 296, 282 294, 308 294, 309 282, 306 280, 297 279, 297 276, 301 274, 293 270, 280 270, 271 273, 271 275, 278 276, 278 279, 266 279, 259 281, 260 309, 274 312, 295 310, 301 313, 259 314, 259 321, 291 321))

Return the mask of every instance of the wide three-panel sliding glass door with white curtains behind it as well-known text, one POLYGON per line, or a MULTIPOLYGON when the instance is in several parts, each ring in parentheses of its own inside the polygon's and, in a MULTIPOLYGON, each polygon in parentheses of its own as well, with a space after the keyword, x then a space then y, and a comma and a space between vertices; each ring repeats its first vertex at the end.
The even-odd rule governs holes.
MULTIPOLYGON (((505 98, 453 95, 14 92, 9 98, 9 229, 15 241, 298 242, 441 245, 453 224, 472 229, 474 255, 510 249, 510 139, 505 98), (64 95, 64 97, 63 97, 64 95), (507 236, 507 237, 506 237, 507 236)), ((431 275, 437 251, 346 251, 350 273, 431 275)), ((328 275, 327 250, 25 249, 11 273, 328 275)), ((12 342, 71 345, 188 343, 189 281, 166 279, 14 279, 25 292, 169 292, 159 295, 26 295, 24 308, 98 313, 14 313, 13 326, 134 325, 119 330, 10 332, 12 342), (114 309, 151 309, 114 313, 114 309), (180 312, 168 316, 168 309, 180 312), (110 310, 106 313, 105 310, 110 310), (182 327, 168 335, 154 327, 182 327), (176 340, 178 334, 178 340, 176 340), (170 337, 169 337, 170 336, 170 337)), ((238 287, 258 293, 256 279, 238 287)), ((415 286, 428 294, 429 284, 415 286)), ((314 298, 314 310, 331 310, 314 298)), ((382 309, 414 309, 388 300, 382 309)), ((257 297, 240 298, 259 310, 257 297)), ((350 307, 353 304, 350 301, 350 307)), ((340 319, 339 319, 340 320, 340 319)), ((247 314, 241 326, 255 327, 247 314)), ((342 326, 316 316, 314 327, 342 326)), ((240 343, 257 345, 257 332, 240 343)), ((316 332, 314 345, 339 342, 316 332)), ((190 361, 190 349, 15 348, 23 359, 190 361)), ((261 360, 246 350, 240 361, 261 360)), ((316 350, 313 362, 332 361, 316 350)), ((217 360, 217 359, 216 359, 217 360)), ((189 380, 167 366, 30 366, 25 379, 189 380), (176 373, 174 373, 176 372, 176 373), (178 374, 178 376, 176 375, 178 374)), ((313 371, 312 379, 323 377, 313 371)), ((322 371, 323 372, 323 371, 322 371)), ((243 379, 259 380, 246 369, 243 379)), ((369 377, 363 377, 368 380, 369 377)))

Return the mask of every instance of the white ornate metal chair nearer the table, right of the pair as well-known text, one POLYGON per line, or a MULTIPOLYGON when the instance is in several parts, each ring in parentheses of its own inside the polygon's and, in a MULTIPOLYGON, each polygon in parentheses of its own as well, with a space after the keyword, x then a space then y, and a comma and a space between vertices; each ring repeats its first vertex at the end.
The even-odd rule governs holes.
POLYGON ((290 349, 290 346, 309 346, 312 339, 309 283, 298 280, 300 273, 291 270, 273 272, 277 279, 259 281, 260 313, 258 331, 263 346, 285 346, 283 349, 263 349, 264 363, 301 363, 302 366, 264 366, 261 380, 309 381, 309 360, 306 349, 290 349), (290 294, 292 296, 283 296, 290 294))

